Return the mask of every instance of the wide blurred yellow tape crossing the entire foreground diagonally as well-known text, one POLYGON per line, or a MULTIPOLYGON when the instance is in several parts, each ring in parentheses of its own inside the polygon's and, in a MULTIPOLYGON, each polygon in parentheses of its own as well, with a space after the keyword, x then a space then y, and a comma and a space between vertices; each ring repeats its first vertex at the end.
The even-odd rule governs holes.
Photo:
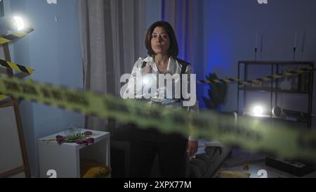
POLYGON ((43 103, 85 115, 112 117, 120 122, 133 122, 138 127, 157 127, 161 132, 217 139, 245 148, 265 151, 282 158, 316 160, 316 132, 289 129, 281 124, 263 123, 249 117, 220 115, 212 111, 199 114, 171 110, 135 100, 123 100, 105 94, 84 92, 40 82, 27 82, 0 75, 0 92, 15 98, 43 103))

